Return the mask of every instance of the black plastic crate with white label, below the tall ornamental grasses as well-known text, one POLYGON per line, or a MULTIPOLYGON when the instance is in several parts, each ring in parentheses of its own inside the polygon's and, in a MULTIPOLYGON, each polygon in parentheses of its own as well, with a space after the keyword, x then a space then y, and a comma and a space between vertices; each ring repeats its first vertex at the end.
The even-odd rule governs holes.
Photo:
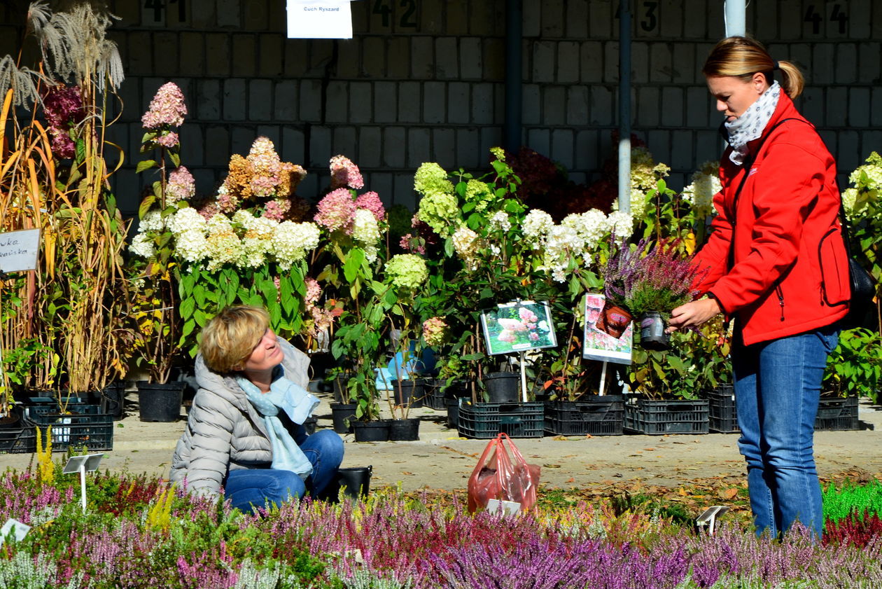
POLYGON ((113 449, 113 415, 101 413, 100 405, 68 407, 70 414, 58 415, 57 407, 34 406, 30 418, 41 430, 52 427, 52 450, 86 447, 113 449))

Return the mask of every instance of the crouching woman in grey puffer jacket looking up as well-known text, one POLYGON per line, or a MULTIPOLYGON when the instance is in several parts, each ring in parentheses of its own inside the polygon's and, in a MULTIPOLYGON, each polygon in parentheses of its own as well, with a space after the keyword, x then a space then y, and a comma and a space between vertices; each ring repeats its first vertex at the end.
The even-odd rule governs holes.
POLYGON ((172 457, 171 480, 191 493, 224 489, 239 510, 321 494, 343 460, 333 430, 306 434, 318 405, 304 387, 310 360, 269 328, 269 315, 231 306, 202 330, 199 389, 172 457))

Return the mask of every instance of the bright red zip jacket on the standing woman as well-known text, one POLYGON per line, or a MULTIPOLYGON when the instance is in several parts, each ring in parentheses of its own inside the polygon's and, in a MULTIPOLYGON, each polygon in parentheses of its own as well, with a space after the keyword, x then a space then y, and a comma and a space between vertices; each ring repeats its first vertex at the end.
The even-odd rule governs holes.
POLYGON ((848 313, 848 259, 839 222, 836 162, 814 127, 781 93, 760 140, 751 141, 750 170, 722 156, 719 215, 694 263, 707 268, 696 285, 736 315, 744 344, 794 336, 848 313), (785 121, 769 134, 769 130, 785 121), (744 174, 744 188, 735 193, 744 174), (732 210, 737 207, 733 217, 732 210), (729 248, 733 247, 729 268, 729 248))

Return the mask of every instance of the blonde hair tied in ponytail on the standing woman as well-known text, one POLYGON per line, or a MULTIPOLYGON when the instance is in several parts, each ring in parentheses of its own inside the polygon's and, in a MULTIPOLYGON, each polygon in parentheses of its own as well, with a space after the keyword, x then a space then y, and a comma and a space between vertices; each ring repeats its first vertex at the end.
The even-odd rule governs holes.
POLYGON ((771 84, 776 68, 781 70, 781 87, 790 98, 796 98, 803 93, 805 79, 796 64, 789 61, 776 62, 762 43, 750 37, 728 37, 717 43, 707 56, 701 72, 707 78, 734 76, 744 81, 760 72, 766 75, 766 81, 771 84))

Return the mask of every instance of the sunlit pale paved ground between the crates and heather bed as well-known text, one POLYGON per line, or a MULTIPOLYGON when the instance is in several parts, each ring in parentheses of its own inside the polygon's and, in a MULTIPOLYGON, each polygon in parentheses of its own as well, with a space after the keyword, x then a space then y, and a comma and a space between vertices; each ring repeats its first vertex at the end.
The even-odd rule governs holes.
MULTIPOLYGON (((329 398, 318 409, 318 427, 331 427, 329 398)), ((137 396, 127 399, 127 416, 116 424, 114 449, 101 468, 148 472, 168 476, 168 464, 184 417, 175 423, 146 423, 138 419, 137 396)), ((882 472, 882 411, 862 404, 863 429, 818 432, 815 453, 822 477, 846 471, 882 472)), ((357 443, 344 437, 344 466, 373 466, 372 487, 400 482, 406 491, 423 487, 462 489, 475 468, 486 441, 463 440, 445 427, 445 412, 415 410, 419 417, 419 442, 357 443)), ((542 483, 549 487, 603 486, 623 481, 677 487, 689 480, 741 476, 744 462, 736 434, 618 435, 545 437, 516 440, 530 462, 542 465, 542 483)), ((59 456, 59 455, 56 455, 59 456)), ((31 455, 0 455, 0 468, 26 468, 31 455)))

